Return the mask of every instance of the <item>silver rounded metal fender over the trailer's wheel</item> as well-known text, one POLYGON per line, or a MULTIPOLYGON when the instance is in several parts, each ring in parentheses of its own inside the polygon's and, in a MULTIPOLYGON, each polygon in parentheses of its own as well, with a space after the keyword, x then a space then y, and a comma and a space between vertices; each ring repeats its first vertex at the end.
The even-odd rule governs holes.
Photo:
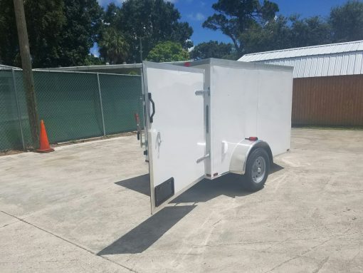
POLYGON ((246 163, 248 155, 257 148, 263 148, 268 153, 270 164, 273 163, 273 155, 268 143, 263 140, 251 141, 248 139, 242 140, 234 148, 231 163, 229 164, 229 172, 236 173, 238 175, 244 175, 246 172, 246 163))

